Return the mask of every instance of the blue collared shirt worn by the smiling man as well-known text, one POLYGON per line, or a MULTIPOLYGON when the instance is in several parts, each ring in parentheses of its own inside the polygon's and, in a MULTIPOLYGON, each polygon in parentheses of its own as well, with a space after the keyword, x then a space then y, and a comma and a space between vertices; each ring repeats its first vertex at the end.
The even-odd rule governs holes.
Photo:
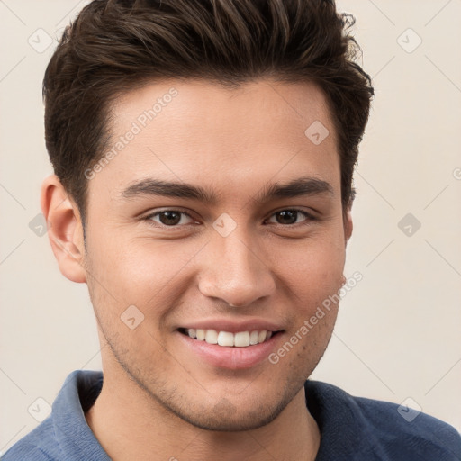
MULTIPOLYGON (((84 414, 102 384, 101 372, 77 370, 68 375, 50 416, 2 461, 110 461, 84 414)), ((424 413, 405 419, 395 403, 353 397, 331 384, 308 380, 304 390, 321 430, 316 461, 461 460, 461 436, 445 422, 424 413)))

